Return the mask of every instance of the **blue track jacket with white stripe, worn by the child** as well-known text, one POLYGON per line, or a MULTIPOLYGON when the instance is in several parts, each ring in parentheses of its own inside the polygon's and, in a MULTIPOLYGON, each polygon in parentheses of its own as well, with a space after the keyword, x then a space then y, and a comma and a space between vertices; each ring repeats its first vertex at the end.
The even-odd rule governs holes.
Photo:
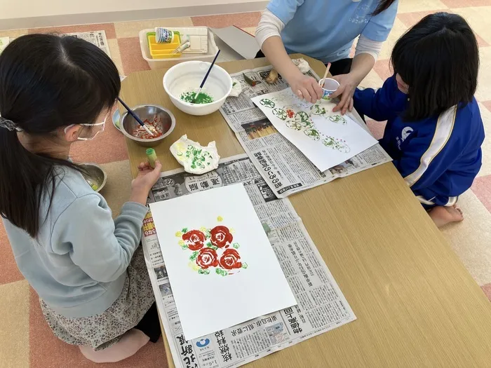
POLYGON ((485 137, 475 98, 440 116, 403 121, 408 95, 398 90, 396 76, 391 76, 379 90, 357 89, 354 102, 358 113, 387 121, 379 142, 424 207, 454 205, 471 187, 480 170, 485 137))

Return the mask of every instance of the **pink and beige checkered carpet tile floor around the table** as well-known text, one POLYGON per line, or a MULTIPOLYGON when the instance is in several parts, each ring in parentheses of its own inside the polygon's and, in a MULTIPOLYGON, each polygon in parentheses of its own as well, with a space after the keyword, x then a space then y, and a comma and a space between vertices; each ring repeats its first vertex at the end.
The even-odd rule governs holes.
MULTIPOLYGON (((462 14, 464 17, 468 18, 476 32, 481 55, 486 55, 486 57, 487 55, 491 55, 491 53, 489 53, 491 27, 489 27, 489 23, 486 25, 487 17, 485 17, 485 15, 491 14, 491 0, 427 0, 415 1, 414 3, 412 3, 412 0, 401 0, 399 11, 398 32, 401 32, 401 34, 402 32, 405 32, 408 27, 419 21, 424 15, 429 13, 434 13, 436 11, 451 11, 462 14), (482 16, 480 16, 481 14, 482 16), (401 29, 401 27, 403 29, 401 29)), ((203 25, 208 27, 228 27, 230 25, 236 25, 237 27, 247 29, 248 32, 253 32, 253 29, 257 26, 259 20, 260 13, 255 12, 162 20, 162 23, 196 26, 203 25)), ((34 32, 70 33, 104 29, 107 39, 114 40, 109 41, 109 43, 112 47, 112 52, 118 57, 118 60, 115 59, 115 62, 122 66, 123 74, 127 75, 134 71, 149 70, 149 65, 142 59, 140 53, 137 32, 139 27, 140 29, 155 27, 156 22, 156 20, 151 20, 148 22, 105 23, 43 29, 22 29, 9 32, 0 31, 0 36, 15 37, 34 32), (124 36, 118 38, 117 34, 124 36)), ((481 62, 489 63, 491 60, 483 60, 483 58, 481 58, 481 62)), ((378 60, 375 64, 374 71, 380 81, 384 81, 391 76, 388 57, 378 60)), ((491 69, 481 69, 480 79, 491 80, 490 78, 491 69)), ((380 86, 372 87, 377 88, 380 86)), ((486 91, 487 90, 483 90, 481 95, 487 97, 486 91)), ((491 94, 490 97, 485 100, 487 101, 482 102, 483 109, 489 111, 482 111, 482 114, 485 119, 491 120, 491 94)), ((368 120, 367 123, 375 137, 382 137, 384 123, 370 120, 368 120)), ((490 126, 489 124, 490 122, 487 122, 487 126, 490 126)), ((488 131, 487 135, 489 137, 491 132, 488 131)), ((105 131, 97 136, 93 142, 81 142, 76 144, 72 151, 72 156, 79 162, 95 162, 101 164, 124 162, 124 160, 127 160, 128 158, 123 136, 114 128, 109 119, 105 131)), ((489 148, 483 149, 483 160, 486 162, 491 160, 491 150, 489 148)), ((470 195, 463 197, 471 198, 470 200, 473 202, 464 202, 462 204, 466 208, 476 208, 476 213, 472 213, 472 216, 470 216, 471 219, 467 222, 464 221, 462 224, 458 224, 458 227, 450 228, 450 230, 444 229, 443 233, 448 236, 450 245, 453 244, 452 241, 459 242, 459 247, 455 246, 454 249, 463 260, 469 273, 471 273, 476 279, 476 282, 481 285, 483 292, 491 299, 491 259, 485 260, 483 271, 483 259, 480 259, 479 262, 476 261, 476 264, 473 264, 472 262, 469 263, 468 261, 466 262, 466 259, 472 259, 472 257, 466 257, 466 254, 461 253, 462 240, 452 240, 455 238, 455 234, 464 234, 464 236, 462 236, 464 239, 472 238, 473 232, 476 232, 475 229, 480 229, 479 227, 476 227, 476 224, 480 225, 481 228, 482 226, 491 224, 491 175, 486 175, 486 172, 484 172, 483 175, 480 175, 474 182, 469 194, 470 195), (474 198, 477 199, 475 200, 474 198)), ((114 210, 117 211, 117 209, 114 210)), ((483 237, 482 233, 478 235, 476 241, 480 243, 480 249, 485 249, 491 245, 490 233, 485 234, 485 237, 483 237)), ((459 236, 457 236, 457 238, 459 238, 459 236)), ((478 247, 471 246, 473 240, 464 241, 469 242, 469 252, 478 252, 476 251, 476 249, 479 249, 478 247)), ((466 247, 464 246, 464 250, 465 249, 466 247)), ((476 254, 473 254, 473 256, 476 256, 476 254)), ((3 294, 13 295, 17 298, 15 299, 13 297, 7 299, 6 303, 0 304, 0 323, 4 321, 1 319, 2 316, 8 316, 11 313, 20 313, 16 318, 21 321, 18 325, 22 326, 18 327, 18 325, 16 325, 16 330, 11 331, 9 330, 10 324, 8 323, 8 319, 3 323, 0 330, 0 368, 167 367, 166 353, 163 349, 162 340, 156 344, 149 344, 134 357, 118 364, 93 364, 82 357, 78 348, 69 346, 56 339, 44 321, 36 293, 27 285, 22 274, 15 266, 15 260, 13 259, 11 248, 8 244, 8 238, 6 237, 5 230, 1 224, 0 289, 3 294), (11 301, 12 304, 8 304, 9 301, 11 301), (22 312, 22 308, 20 308, 20 305, 22 304, 25 307, 25 313, 27 313, 27 315, 22 315, 22 313, 24 313, 22 312)))

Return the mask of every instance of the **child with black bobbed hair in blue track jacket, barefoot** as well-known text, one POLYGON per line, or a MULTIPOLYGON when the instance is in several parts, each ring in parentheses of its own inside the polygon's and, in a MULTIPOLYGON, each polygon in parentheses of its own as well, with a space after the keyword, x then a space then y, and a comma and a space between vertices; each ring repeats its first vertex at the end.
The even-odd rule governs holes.
POLYGON ((380 144, 435 224, 462 221, 457 198, 478 175, 485 137, 476 37, 459 15, 431 14, 397 41, 391 63, 382 88, 356 90, 358 112, 387 121, 380 144))

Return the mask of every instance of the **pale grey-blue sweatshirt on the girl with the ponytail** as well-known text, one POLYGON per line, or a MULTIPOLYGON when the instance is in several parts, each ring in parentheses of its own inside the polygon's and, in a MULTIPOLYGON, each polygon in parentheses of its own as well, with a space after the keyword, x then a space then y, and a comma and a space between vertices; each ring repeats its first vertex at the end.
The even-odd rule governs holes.
POLYGON ((63 168, 37 238, 4 219, 15 261, 39 297, 66 317, 104 312, 119 297, 147 207, 127 202, 116 220, 83 176, 63 168), (47 212, 47 216, 46 216, 47 212))

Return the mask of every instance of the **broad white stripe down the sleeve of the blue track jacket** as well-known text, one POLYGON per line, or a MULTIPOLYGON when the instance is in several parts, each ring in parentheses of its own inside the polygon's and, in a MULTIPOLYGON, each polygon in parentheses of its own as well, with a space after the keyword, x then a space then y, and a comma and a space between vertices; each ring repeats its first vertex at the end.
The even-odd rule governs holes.
POLYGON ((447 111, 444 111, 440 116, 438 116, 438 121, 436 123, 435 134, 431 140, 426 152, 419 160, 419 167, 404 178, 408 186, 413 186, 426 172, 433 158, 440 153, 440 151, 447 144, 450 135, 452 135, 452 130, 455 124, 455 116, 457 115, 457 105, 450 107, 447 111))

